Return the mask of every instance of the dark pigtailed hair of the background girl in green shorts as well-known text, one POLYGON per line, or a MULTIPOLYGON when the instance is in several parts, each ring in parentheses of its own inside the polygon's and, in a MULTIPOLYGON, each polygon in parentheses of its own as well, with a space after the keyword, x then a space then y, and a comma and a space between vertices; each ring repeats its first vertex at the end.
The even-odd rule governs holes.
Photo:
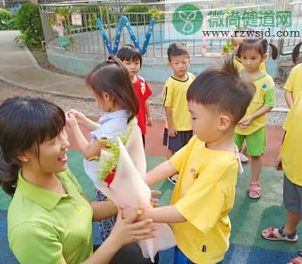
POLYGON ((249 49, 255 49, 261 56, 264 56, 268 52, 268 46, 270 46, 272 59, 275 60, 278 57, 278 49, 274 44, 268 43, 266 39, 244 39, 238 49, 238 56, 249 49))

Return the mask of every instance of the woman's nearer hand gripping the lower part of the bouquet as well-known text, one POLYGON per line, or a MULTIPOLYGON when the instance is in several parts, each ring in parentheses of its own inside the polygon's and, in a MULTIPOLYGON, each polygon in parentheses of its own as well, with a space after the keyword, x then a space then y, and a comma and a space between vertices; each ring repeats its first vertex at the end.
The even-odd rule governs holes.
POLYGON ((111 232, 111 239, 120 247, 134 243, 139 240, 150 239, 156 237, 158 227, 153 224, 152 219, 146 219, 139 222, 134 222, 138 218, 136 212, 132 215, 127 215, 127 218, 122 218, 122 210, 118 209, 118 217, 111 232))

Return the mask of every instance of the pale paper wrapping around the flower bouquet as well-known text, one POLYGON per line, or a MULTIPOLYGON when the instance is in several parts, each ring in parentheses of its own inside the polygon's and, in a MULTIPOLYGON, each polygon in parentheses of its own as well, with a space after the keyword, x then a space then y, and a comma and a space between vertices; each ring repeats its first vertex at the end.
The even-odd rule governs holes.
MULTIPOLYGON (((102 191, 108 199, 111 199, 116 206, 121 208, 128 206, 142 209, 150 208, 151 190, 144 182, 146 156, 138 125, 133 125, 126 146, 122 144, 119 138, 118 144, 120 147, 118 167, 110 187, 107 187, 107 183, 102 182, 98 177, 102 159, 111 156, 108 151, 101 151, 99 162, 84 162, 85 172, 92 179, 96 188, 102 191)), ((167 224, 156 225, 158 225, 158 236, 156 238, 139 241, 144 258, 151 258, 152 262, 154 262, 154 256, 158 251, 175 246, 175 239, 170 227, 167 224)))

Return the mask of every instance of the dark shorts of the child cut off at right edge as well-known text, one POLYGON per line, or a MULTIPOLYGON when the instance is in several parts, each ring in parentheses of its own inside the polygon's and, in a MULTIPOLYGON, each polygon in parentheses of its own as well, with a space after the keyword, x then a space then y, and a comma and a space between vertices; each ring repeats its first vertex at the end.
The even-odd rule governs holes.
POLYGON ((283 182, 283 203, 284 207, 302 216, 302 187, 292 183, 284 174, 283 182))

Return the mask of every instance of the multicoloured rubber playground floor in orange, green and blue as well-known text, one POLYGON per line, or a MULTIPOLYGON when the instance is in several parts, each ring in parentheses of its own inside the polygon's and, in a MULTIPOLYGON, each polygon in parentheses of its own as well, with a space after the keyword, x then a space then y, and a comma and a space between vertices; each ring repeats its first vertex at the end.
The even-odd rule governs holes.
MULTIPOLYGON (((77 176, 84 191, 91 199, 94 199, 93 186, 89 178, 84 174, 82 156, 77 150, 70 132, 70 151, 68 151, 68 166, 77 176)), ((89 133, 85 131, 88 136, 89 133)), ((165 161, 165 148, 162 146, 163 121, 155 120, 153 127, 149 129, 146 137, 146 154, 148 170, 165 161)), ((244 165, 244 173, 239 175, 237 184, 236 201, 234 209, 230 213, 232 220, 231 246, 223 263, 288 263, 296 256, 296 251, 301 244, 287 244, 285 242, 265 241, 260 237, 260 230, 275 225, 284 224, 286 213, 282 205, 282 172, 277 172, 273 166, 277 157, 283 130, 280 126, 268 127, 268 150, 263 156, 263 170, 260 181, 263 187, 263 197, 258 201, 248 199, 246 191, 250 180, 250 166, 244 165)), ((162 182, 153 189, 162 192, 160 205, 168 205, 172 194, 173 185, 162 182)), ((6 213, 11 199, 0 191, 0 263, 18 263, 8 248, 6 213)), ((298 235, 302 236, 301 230, 298 235)), ((94 241, 99 241, 97 230, 94 227, 94 241)), ((161 264, 172 264, 172 250, 161 252, 161 264)))

